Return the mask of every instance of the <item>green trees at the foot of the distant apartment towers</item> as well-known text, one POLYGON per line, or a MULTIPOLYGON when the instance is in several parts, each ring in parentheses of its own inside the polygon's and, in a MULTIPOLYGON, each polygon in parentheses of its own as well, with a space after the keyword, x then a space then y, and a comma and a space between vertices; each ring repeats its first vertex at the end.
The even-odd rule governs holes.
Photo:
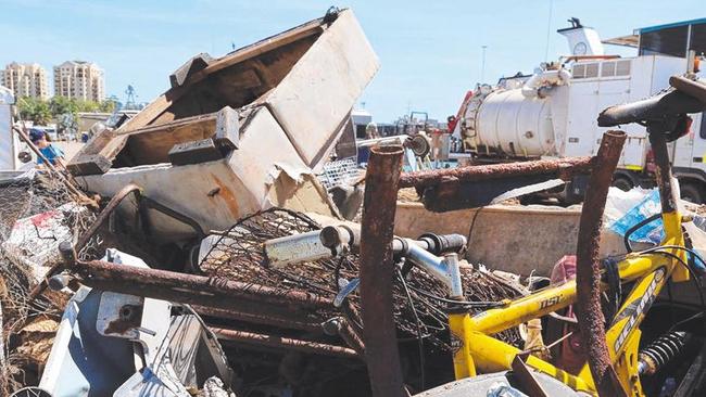
POLYGON ((112 100, 99 103, 66 97, 53 97, 49 101, 23 97, 17 101, 20 117, 37 125, 49 124, 52 119, 61 120, 64 115, 71 115, 74 119, 78 119, 79 112, 113 113, 115 107, 116 103, 112 100))

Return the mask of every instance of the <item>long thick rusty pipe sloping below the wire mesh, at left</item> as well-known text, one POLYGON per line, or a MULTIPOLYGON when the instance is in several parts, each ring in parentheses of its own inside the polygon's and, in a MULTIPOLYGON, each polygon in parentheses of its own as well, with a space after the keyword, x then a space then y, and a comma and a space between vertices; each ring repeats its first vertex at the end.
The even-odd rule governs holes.
MULTIPOLYGON (((72 271, 81 282, 103 291, 174 300, 185 304, 231 307, 234 300, 329 308, 329 299, 301 291, 283 291, 269 286, 226 279, 136 268, 100 260, 76 261, 72 271)), ((238 304, 238 303, 235 303, 238 304)))

